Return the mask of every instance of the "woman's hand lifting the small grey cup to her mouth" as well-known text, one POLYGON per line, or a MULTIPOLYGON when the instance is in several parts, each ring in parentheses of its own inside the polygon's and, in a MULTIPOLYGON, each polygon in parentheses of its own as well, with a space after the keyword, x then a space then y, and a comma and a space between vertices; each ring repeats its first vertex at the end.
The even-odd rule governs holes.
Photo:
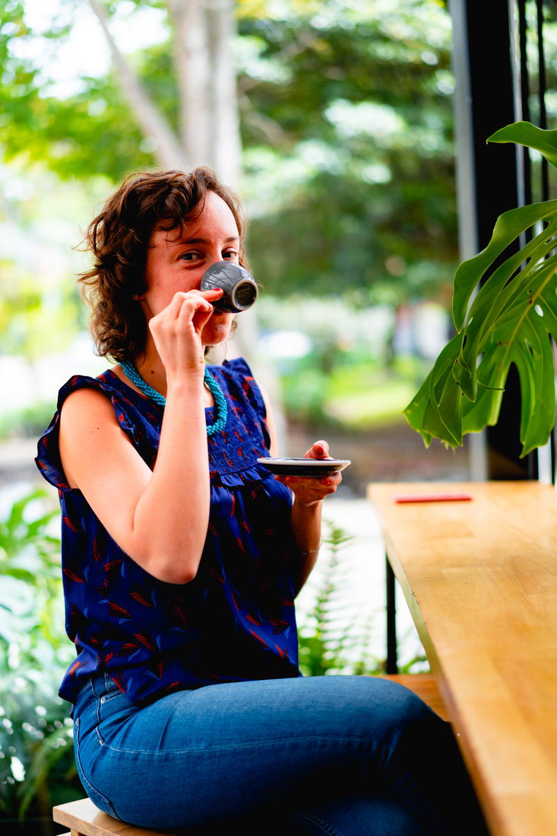
POLYGON ((149 319, 149 329, 160 359, 165 366, 167 380, 180 374, 205 370, 205 346, 201 333, 223 291, 188 290, 175 293, 170 304, 160 314, 149 319))

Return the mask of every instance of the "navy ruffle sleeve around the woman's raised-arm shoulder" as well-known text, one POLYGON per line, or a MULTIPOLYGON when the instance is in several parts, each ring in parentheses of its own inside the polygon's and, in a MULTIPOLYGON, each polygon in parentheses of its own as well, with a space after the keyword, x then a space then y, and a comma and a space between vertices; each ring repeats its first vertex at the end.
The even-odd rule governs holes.
MULTIPOLYGON (((119 422, 119 426, 138 449, 142 446, 141 441, 144 436, 144 432, 142 432, 142 428, 139 426, 139 421, 134 416, 133 405, 118 390, 115 390, 114 387, 104 380, 104 375, 100 375, 99 378, 92 378, 86 375, 73 375, 58 392, 57 410, 47 430, 44 431, 43 436, 38 440, 37 456, 35 457, 35 463, 38 466, 39 472, 41 472, 47 482, 57 487, 58 491, 62 493, 70 491, 71 487, 68 485, 66 475, 63 472, 62 461, 60 460, 60 410, 62 410, 63 403, 68 395, 78 389, 94 389, 107 395, 112 402, 114 415, 119 422)), ((139 449, 139 451, 141 450, 139 449)))

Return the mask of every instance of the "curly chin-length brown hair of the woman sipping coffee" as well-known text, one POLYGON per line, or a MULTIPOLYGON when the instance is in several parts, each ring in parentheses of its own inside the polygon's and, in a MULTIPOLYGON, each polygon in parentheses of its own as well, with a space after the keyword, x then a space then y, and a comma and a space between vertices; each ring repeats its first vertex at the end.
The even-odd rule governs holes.
POLYGON ((144 350, 146 323, 134 296, 144 293, 144 266, 155 227, 183 232, 199 217, 208 191, 220 196, 234 215, 240 236, 240 263, 245 265, 246 226, 240 201, 214 171, 200 166, 184 171, 139 172, 129 175, 104 204, 84 237, 93 267, 81 273, 84 296, 92 308, 91 333, 97 353, 120 361, 144 350))

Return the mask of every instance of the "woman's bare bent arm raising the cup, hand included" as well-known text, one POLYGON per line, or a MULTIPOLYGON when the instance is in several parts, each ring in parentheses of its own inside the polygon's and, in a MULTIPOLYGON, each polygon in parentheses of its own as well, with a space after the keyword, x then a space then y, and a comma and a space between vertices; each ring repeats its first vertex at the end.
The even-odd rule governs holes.
POLYGON ((65 401, 60 456, 70 486, 81 490, 120 548, 155 578, 185 584, 199 567, 210 503, 203 354, 198 358, 199 346, 186 350, 185 331, 193 321, 199 332, 212 306, 199 293, 176 297, 165 317, 149 323, 167 381, 153 471, 120 429, 110 401, 94 390, 65 401))

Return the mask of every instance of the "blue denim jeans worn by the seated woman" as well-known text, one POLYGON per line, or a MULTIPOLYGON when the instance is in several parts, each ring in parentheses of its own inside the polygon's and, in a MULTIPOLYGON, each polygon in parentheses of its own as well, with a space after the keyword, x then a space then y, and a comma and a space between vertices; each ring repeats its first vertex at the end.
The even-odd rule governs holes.
POLYGON ((448 723, 367 676, 223 683, 134 706, 104 674, 74 712, 79 776, 125 822, 187 833, 487 833, 448 723))

